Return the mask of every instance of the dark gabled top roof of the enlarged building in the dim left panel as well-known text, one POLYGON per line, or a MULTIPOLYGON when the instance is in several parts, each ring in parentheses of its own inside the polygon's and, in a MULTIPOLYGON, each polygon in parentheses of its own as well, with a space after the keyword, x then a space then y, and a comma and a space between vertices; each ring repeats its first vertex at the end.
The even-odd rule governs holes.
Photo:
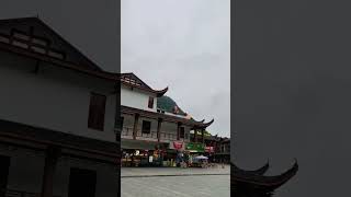
POLYGON ((99 78, 117 80, 37 18, 0 20, 0 49, 99 78))

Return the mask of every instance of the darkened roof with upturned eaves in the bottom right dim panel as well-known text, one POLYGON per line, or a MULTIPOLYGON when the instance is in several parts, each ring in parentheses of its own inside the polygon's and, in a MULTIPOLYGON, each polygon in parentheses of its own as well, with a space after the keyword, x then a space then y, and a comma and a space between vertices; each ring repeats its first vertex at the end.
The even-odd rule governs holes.
POLYGON ((286 172, 265 176, 269 164, 254 171, 241 170, 231 164, 231 190, 236 197, 270 197, 274 190, 290 181, 298 171, 297 162, 286 172))

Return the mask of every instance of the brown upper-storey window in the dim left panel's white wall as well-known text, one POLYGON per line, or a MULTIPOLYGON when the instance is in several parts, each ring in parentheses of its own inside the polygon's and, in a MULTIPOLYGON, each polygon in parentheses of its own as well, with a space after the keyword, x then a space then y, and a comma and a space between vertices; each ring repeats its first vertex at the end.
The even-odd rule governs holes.
POLYGON ((103 130, 105 119, 106 96, 91 93, 88 127, 103 130))

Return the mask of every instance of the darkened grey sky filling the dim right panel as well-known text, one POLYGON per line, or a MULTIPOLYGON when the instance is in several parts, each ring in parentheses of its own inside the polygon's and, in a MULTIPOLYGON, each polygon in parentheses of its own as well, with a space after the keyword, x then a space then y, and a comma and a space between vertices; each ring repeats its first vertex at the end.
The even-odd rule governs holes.
POLYGON ((276 197, 350 196, 351 19, 348 1, 237 1, 239 166, 299 171, 276 197))

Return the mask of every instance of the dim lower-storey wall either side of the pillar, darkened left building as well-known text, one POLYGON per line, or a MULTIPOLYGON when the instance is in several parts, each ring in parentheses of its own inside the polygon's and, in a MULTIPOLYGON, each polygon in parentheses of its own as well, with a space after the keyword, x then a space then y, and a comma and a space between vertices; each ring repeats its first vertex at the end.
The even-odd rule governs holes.
MULTIPOLYGON (((9 150, 0 143, 0 155, 10 157, 8 188, 41 193, 44 174, 45 155, 43 151, 15 148, 9 150)), ((93 170, 97 172, 97 197, 117 196, 120 177, 117 169, 111 164, 97 163, 88 160, 60 158, 54 176, 54 195, 68 196, 70 167, 93 170)))

